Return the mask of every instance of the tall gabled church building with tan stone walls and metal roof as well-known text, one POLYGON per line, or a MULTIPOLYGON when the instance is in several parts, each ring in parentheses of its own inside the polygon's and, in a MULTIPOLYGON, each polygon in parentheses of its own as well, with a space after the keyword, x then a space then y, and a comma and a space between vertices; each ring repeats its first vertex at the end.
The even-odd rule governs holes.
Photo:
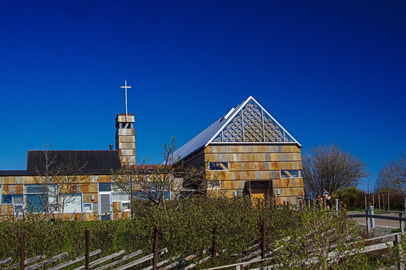
POLYGON ((300 148, 250 96, 173 155, 185 166, 206 167, 215 195, 273 196, 296 205, 305 195, 300 148))

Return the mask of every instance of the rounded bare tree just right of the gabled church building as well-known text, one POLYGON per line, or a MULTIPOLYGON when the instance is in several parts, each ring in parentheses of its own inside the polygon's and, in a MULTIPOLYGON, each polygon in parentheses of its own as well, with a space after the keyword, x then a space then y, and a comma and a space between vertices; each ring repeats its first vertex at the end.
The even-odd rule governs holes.
POLYGON ((308 195, 320 195, 324 188, 333 193, 340 188, 356 186, 369 175, 364 162, 334 143, 312 148, 304 156, 302 165, 308 195))

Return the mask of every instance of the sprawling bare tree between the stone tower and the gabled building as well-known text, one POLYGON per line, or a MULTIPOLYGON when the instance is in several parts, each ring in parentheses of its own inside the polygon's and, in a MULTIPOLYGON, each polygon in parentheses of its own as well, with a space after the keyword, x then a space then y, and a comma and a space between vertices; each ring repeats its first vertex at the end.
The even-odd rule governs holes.
MULTIPOLYGON (((206 193, 204 168, 184 167, 178 157, 175 138, 164 143, 164 162, 159 165, 127 165, 112 172, 116 191, 130 194, 132 202, 144 200, 166 209, 176 198, 206 193)), ((133 208, 133 207, 132 207, 133 208)), ((133 209, 131 209, 133 212, 133 209)))

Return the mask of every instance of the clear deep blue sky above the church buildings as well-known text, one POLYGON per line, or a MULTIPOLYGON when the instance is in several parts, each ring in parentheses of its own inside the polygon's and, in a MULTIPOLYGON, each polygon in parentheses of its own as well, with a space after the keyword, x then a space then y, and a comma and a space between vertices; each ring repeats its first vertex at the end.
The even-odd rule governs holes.
POLYGON ((406 150, 405 14, 404 0, 3 1, 0 169, 47 138, 108 149, 126 79, 138 161, 254 96, 304 153, 335 142, 366 162, 372 188, 406 150))

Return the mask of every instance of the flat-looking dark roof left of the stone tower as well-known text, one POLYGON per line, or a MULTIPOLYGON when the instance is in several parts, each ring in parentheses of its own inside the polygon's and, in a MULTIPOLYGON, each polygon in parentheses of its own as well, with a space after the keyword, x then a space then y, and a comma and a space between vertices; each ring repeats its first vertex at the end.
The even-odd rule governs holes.
POLYGON ((27 171, 45 171, 47 159, 48 170, 61 166, 82 171, 121 168, 118 150, 31 150, 27 154, 27 171))

